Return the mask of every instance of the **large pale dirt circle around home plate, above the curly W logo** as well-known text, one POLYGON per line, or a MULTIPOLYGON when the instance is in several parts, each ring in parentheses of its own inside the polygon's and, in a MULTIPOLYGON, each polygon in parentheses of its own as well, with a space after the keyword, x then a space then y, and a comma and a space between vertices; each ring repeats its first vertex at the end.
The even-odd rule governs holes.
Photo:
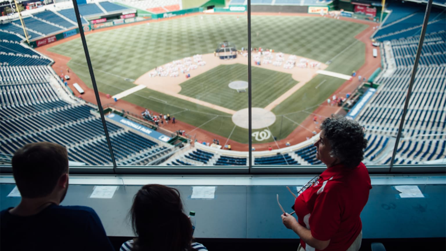
MULTIPOLYGON (((248 129, 248 108, 241 109, 232 115, 232 122, 236 126, 248 129)), ((274 113, 259 107, 252 108, 252 129, 271 126, 276 121, 274 113)))

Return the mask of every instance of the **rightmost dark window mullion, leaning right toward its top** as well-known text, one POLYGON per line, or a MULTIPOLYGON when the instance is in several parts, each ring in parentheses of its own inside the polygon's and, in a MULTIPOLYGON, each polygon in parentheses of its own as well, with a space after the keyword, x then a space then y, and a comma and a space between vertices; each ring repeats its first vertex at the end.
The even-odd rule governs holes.
POLYGON ((392 172, 392 167, 393 167, 393 162, 395 160, 396 150, 398 149, 398 143, 401 138, 401 133, 402 133, 403 126, 404 126, 405 117, 407 114, 407 107, 409 106, 410 95, 412 94, 413 82, 415 81, 415 75, 417 73, 418 63, 420 61, 421 49, 423 47, 424 37, 426 34, 428 22, 429 22, 429 15, 430 15, 430 9, 432 7, 432 1, 433 0, 429 0, 427 3, 427 6, 426 6, 426 12, 424 15, 423 26, 421 28, 421 36, 420 36, 420 40, 418 41, 417 55, 415 57, 415 62, 413 63, 412 73, 410 75, 409 88, 407 90, 406 100, 404 102, 404 109, 403 109, 403 114, 401 116, 400 127, 398 129, 398 134, 396 135, 395 147, 393 147, 393 153, 392 153, 392 159, 390 160, 389 172, 392 172))

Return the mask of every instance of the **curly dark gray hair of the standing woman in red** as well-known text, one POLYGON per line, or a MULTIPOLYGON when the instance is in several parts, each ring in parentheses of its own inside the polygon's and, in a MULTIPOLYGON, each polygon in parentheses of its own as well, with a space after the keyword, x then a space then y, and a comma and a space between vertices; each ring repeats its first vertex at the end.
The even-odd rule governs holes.
POLYGON ((330 142, 330 155, 339 158, 346 167, 356 167, 364 158, 367 139, 357 121, 334 115, 327 117, 320 126, 330 142))

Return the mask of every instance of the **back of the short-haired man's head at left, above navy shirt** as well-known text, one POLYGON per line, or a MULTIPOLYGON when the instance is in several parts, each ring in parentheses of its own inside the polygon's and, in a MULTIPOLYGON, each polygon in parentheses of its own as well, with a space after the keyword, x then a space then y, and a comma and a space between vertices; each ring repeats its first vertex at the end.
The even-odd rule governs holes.
POLYGON ((12 157, 12 173, 22 197, 45 197, 68 173, 66 148, 51 142, 27 144, 12 157))

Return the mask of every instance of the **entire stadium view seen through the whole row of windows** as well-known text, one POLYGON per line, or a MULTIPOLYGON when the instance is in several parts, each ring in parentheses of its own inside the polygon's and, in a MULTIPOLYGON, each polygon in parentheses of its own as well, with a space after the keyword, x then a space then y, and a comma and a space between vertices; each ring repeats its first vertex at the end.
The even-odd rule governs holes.
MULTIPOLYGON (((118 167, 251 166, 249 137, 252 165, 317 167, 312 144, 334 113, 366 128, 366 164, 390 164, 425 3, 387 1, 381 16, 380 1, 252 0, 248 34, 246 1, 223 2, 78 1, 118 167)), ((112 166, 72 2, 33 8, 31 48, 18 15, 1 17, 0 154, 47 140, 112 166)), ((395 164, 445 158, 445 20, 434 3, 395 164)))

